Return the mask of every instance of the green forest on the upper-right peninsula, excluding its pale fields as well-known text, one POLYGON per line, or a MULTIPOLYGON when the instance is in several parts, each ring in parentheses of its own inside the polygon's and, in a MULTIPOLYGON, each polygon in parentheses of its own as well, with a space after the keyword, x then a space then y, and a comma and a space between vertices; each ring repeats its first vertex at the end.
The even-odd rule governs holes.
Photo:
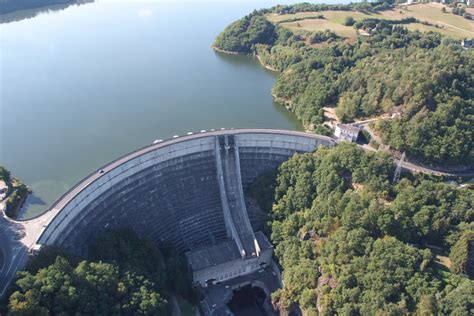
MULTIPOLYGON (((319 11, 326 7, 331 8, 319 11)), ((284 10, 298 8, 315 9, 295 5, 284 10)), ((394 111, 401 115, 374 126, 384 143, 429 163, 474 162, 472 49, 439 33, 408 31, 404 24, 412 23, 410 18, 357 21, 353 26, 370 36, 359 36, 353 44, 329 31, 294 33, 266 19, 278 10, 254 11, 232 23, 214 45, 256 54, 280 71, 273 94, 305 126, 328 133, 321 125, 326 106, 336 107, 343 122, 394 111), (321 42, 326 45, 308 45, 321 42)))

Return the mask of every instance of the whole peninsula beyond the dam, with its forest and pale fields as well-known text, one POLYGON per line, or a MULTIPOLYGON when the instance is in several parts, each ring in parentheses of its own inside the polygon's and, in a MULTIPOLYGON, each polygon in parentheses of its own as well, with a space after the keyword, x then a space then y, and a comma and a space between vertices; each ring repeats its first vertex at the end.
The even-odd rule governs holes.
POLYGON ((375 147, 428 165, 469 166, 474 50, 461 38, 474 35, 474 21, 472 9, 461 6, 463 17, 457 8, 276 6, 232 23, 214 46, 278 70, 273 96, 310 131, 360 123, 375 147))

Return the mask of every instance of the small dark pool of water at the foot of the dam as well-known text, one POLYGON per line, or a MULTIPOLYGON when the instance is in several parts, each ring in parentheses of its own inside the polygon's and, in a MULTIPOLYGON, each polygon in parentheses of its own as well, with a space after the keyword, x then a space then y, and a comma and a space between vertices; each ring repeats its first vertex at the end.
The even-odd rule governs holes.
POLYGON ((247 285, 234 292, 227 306, 236 316, 266 316, 263 308, 266 297, 261 288, 247 285))

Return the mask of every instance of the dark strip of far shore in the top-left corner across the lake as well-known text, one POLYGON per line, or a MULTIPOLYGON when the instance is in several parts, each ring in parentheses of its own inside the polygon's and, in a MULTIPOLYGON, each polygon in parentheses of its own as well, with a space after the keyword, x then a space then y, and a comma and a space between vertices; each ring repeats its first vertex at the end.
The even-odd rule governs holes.
POLYGON ((82 5, 94 1, 95 0, 6 0, 2 3, 2 7, 0 7, 0 24, 31 19, 41 13, 61 11, 71 5, 82 5))

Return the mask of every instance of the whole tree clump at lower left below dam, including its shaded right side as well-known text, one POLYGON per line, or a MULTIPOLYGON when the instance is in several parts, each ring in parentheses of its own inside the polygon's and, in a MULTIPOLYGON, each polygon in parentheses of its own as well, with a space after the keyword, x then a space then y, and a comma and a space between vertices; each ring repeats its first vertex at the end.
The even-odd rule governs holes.
POLYGON ((132 230, 111 230, 86 258, 47 247, 20 272, 9 315, 169 315, 171 295, 194 299, 183 256, 132 230))

